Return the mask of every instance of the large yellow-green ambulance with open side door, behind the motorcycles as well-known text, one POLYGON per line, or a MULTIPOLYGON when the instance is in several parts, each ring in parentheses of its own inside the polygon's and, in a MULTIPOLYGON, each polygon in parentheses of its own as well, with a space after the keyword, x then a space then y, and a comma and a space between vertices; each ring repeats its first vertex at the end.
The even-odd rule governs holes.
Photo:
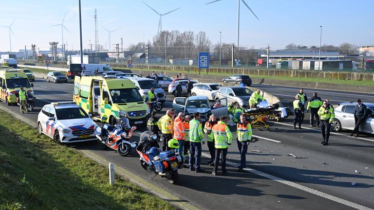
POLYGON ((128 118, 131 125, 146 124, 150 108, 129 79, 113 75, 75 76, 73 100, 94 120, 107 115, 107 123, 128 118))

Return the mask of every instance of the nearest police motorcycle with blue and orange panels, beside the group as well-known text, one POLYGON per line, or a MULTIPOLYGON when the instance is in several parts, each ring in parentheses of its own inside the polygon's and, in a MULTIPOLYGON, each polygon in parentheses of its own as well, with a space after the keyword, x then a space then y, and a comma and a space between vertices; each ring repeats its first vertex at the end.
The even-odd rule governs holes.
MULTIPOLYGON (((179 147, 178 141, 176 143, 169 141, 169 147, 179 147)), ((136 152, 140 156, 140 165, 144 170, 153 172, 154 176, 166 177, 171 184, 178 183, 178 167, 183 164, 182 156, 174 150, 161 151, 157 135, 153 135, 153 132, 145 131, 140 135, 136 152)))

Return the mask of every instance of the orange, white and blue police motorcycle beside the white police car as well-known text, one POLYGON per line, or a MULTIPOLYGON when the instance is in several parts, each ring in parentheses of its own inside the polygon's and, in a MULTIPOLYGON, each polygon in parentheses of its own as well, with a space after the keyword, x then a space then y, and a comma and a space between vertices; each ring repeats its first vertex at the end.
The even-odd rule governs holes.
MULTIPOLYGON (((120 156, 128 156, 131 153, 131 148, 136 147, 136 142, 130 142, 132 132, 136 126, 130 127, 129 119, 123 118, 120 124, 105 123, 107 116, 101 117, 103 125, 97 126, 96 138, 100 140, 104 148, 109 147, 112 150, 117 150, 120 156)), ((118 121, 117 121, 118 122, 118 121)))

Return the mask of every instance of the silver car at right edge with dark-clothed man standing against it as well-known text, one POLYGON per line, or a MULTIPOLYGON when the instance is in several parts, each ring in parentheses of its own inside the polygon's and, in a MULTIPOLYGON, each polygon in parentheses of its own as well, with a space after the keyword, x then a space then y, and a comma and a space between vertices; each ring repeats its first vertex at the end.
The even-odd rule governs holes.
MULTIPOLYGON (((342 129, 353 130, 355 128, 355 103, 341 103, 335 108, 335 120, 331 129, 339 132, 342 129)), ((365 103, 368 110, 366 121, 360 125, 359 130, 364 133, 374 134, 374 104, 365 103)))

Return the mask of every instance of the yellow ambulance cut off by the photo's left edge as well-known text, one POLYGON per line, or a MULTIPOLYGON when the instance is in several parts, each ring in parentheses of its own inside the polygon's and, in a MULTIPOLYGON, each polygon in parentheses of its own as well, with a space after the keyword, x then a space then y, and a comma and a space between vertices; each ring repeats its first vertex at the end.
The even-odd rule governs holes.
POLYGON ((17 104, 19 90, 23 87, 27 95, 34 97, 34 85, 30 84, 26 73, 20 70, 0 70, 0 99, 7 105, 17 104))

